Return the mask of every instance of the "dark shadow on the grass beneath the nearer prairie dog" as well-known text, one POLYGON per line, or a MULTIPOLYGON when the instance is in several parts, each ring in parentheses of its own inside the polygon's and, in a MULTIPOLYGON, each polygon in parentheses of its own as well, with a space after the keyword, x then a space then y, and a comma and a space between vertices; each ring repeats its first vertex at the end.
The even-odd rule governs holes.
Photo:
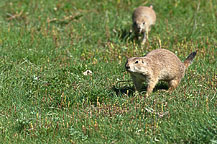
MULTIPOLYGON (((157 84, 153 90, 153 92, 159 91, 159 90, 168 90, 168 85, 166 83, 160 82, 159 84, 157 84)), ((134 87, 129 87, 129 86, 124 86, 124 87, 120 87, 117 88, 115 86, 112 87, 112 90, 116 93, 117 96, 120 95, 128 95, 128 96, 133 96, 133 93, 135 92, 135 88, 134 87)), ((147 85, 145 85, 141 92, 146 92, 147 90, 147 85)))

